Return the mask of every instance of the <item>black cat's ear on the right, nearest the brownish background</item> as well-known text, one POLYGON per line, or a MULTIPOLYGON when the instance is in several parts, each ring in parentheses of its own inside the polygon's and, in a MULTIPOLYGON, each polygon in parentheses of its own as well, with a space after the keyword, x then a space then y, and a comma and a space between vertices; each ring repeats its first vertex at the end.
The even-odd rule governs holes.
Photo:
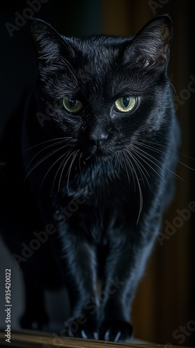
MULTIPOLYGON (((129 54, 139 65, 162 66, 169 61, 172 40, 172 22, 168 15, 150 20, 132 40, 129 54)), ((129 49, 125 52, 125 60, 129 49)), ((130 56, 129 56, 130 61, 130 56)))

